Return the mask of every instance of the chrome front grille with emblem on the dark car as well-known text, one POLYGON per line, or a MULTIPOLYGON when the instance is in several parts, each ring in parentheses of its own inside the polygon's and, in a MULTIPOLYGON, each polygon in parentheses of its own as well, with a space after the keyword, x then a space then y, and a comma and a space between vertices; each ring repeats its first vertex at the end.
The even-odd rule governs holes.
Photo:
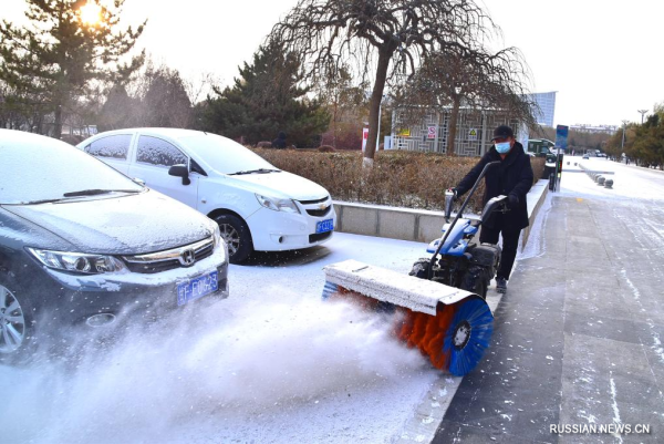
POLYGON ((123 259, 127 264, 127 268, 133 272, 155 273, 180 267, 190 267, 197 261, 210 257, 214 249, 215 242, 210 237, 164 251, 123 256, 123 259), (187 259, 190 261, 187 262, 187 259))

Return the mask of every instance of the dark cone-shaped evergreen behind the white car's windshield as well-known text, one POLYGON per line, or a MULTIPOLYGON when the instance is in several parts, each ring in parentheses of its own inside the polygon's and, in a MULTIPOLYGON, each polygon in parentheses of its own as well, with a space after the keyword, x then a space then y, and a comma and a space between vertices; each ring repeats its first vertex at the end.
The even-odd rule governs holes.
POLYGON ((239 72, 232 87, 215 89, 217 96, 199 106, 201 130, 249 144, 272 141, 283 131, 289 144, 303 147, 328 128, 330 115, 309 97, 293 54, 276 45, 261 47, 239 72))

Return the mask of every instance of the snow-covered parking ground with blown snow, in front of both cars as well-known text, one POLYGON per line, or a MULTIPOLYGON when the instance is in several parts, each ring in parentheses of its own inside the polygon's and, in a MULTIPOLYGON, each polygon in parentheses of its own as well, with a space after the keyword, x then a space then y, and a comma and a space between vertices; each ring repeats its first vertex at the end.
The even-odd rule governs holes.
POLYGON ((321 268, 354 258, 405 273, 424 252, 335 234, 231 266, 231 297, 204 313, 80 345, 69 362, 0 366, 0 441, 388 442, 439 373, 381 319, 323 303, 321 268))

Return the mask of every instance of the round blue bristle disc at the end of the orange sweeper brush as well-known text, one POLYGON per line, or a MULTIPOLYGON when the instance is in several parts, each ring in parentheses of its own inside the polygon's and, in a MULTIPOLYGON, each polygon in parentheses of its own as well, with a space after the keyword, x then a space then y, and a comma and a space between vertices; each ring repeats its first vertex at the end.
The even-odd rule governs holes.
POLYGON ((492 333, 494 316, 484 300, 473 298, 458 302, 443 342, 447 370, 463 376, 475 369, 492 333))

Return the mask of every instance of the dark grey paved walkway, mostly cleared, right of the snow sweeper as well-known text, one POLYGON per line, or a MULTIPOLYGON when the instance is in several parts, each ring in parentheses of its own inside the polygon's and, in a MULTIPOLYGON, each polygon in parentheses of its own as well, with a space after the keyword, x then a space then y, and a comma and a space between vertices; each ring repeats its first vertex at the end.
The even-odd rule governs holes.
POLYGON ((630 226, 640 210, 664 224, 664 211, 637 203, 552 197, 542 252, 518 262, 492 344, 434 443, 664 438, 664 240, 643 254, 647 226, 630 226), (650 424, 652 432, 559 436, 552 424, 650 424))

